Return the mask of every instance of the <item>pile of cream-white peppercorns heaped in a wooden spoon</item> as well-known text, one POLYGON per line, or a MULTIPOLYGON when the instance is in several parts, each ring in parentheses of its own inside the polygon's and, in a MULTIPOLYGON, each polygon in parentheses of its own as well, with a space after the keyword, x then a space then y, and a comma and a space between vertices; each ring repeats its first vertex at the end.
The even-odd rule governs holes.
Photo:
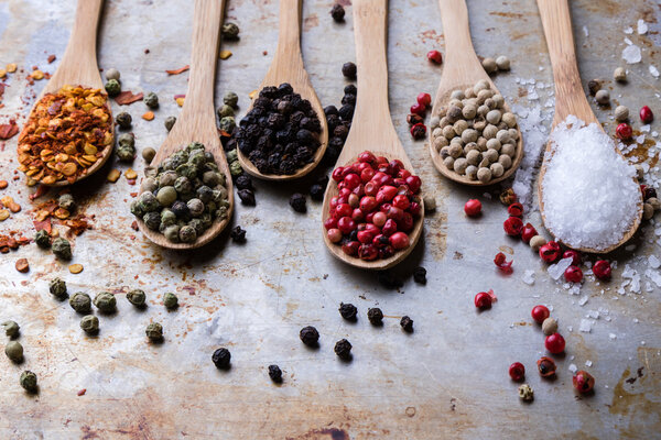
POLYGON ((511 168, 519 147, 517 118, 487 80, 454 90, 431 127, 433 146, 447 169, 487 184, 511 168))

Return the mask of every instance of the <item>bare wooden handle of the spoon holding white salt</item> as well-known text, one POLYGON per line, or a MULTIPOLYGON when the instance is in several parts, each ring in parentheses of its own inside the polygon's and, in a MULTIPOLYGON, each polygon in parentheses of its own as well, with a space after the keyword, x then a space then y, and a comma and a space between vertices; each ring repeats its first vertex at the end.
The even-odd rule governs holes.
POLYGON ((542 16, 542 26, 555 81, 553 125, 564 121, 570 114, 577 114, 582 118, 592 114, 593 120, 586 122, 596 122, 581 86, 567 0, 538 0, 538 8, 542 16))

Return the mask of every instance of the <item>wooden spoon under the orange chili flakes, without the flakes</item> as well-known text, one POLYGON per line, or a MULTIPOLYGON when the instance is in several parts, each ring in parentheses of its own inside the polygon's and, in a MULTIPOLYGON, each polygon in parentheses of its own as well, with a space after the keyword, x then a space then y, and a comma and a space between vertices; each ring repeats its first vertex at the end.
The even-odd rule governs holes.
MULTIPOLYGON (((59 62, 59 66, 55 74, 44 87, 44 90, 39 97, 39 100, 45 94, 56 94, 63 86, 82 86, 104 90, 104 82, 99 74, 96 57, 96 40, 97 26, 99 16, 104 7, 104 0, 78 0, 76 7, 76 19, 74 29, 69 36, 69 42, 64 52, 64 56, 59 62)), ((39 102, 37 100, 37 102, 39 102)), ((107 105, 110 117, 112 110, 110 105, 107 105)), ((34 111, 34 108, 33 110, 34 111)), ((115 135, 115 124, 112 123, 112 134, 115 135)), ((101 151, 101 156, 95 162, 85 174, 76 178, 76 182, 84 179, 97 172, 108 161, 112 154, 112 143, 101 151)), ((67 186, 72 185, 68 180, 57 180, 48 186, 67 186)))

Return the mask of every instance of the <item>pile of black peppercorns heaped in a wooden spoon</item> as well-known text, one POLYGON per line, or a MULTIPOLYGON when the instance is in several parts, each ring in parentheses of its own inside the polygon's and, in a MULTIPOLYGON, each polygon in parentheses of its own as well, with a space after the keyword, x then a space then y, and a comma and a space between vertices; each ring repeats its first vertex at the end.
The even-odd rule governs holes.
POLYGON ((239 151, 262 174, 291 175, 319 147, 319 119, 308 100, 284 82, 264 87, 235 132, 239 151))

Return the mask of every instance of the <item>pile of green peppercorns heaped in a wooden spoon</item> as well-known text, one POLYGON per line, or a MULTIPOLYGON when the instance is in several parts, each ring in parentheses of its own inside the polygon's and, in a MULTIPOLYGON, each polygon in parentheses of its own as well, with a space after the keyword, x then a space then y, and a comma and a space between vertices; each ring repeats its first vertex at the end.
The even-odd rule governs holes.
POLYGON ((191 143, 147 174, 131 212, 169 241, 193 243, 228 217, 225 174, 202 143, 191 143))

